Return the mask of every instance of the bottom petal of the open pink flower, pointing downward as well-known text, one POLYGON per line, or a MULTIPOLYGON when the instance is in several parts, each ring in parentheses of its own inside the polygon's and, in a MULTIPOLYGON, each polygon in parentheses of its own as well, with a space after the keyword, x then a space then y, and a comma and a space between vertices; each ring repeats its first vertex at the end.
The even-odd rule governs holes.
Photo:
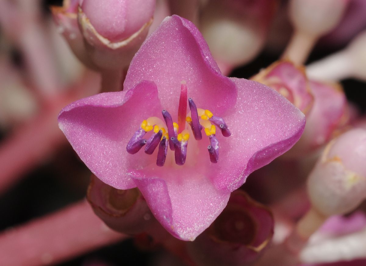
POLYGON ((194 240, 225 208, 230 193, 218 191, 204 175, 182 168, 134 172, 135 183, 156 219, 173 236, 194 240), (153 173, 153 174, 151 174, 153 173))

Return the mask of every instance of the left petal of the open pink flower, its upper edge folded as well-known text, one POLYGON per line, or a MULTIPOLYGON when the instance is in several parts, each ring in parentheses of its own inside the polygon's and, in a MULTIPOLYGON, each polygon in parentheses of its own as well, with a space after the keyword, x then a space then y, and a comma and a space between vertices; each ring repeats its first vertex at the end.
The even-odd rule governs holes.
POLYGON ((59 127, 86 166, 116 189, 135 187, 126 169, 151 163, 145 153, 133 156, 126 144, 150 112, 161 106, 156 85, 142 81, 129 91, 108 92, 78 100, 61 110, 59 127))

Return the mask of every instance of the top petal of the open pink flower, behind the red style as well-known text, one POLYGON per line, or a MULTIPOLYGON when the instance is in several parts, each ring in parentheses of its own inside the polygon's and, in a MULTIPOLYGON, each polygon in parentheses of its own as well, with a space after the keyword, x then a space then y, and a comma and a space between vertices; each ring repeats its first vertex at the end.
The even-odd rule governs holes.
POLYGON ((179 16, 165 18, 131 61, 125 90, 140 80, 152 80, 164 109, 177 116, 180 81, 198 107, 206 104, 218 115, 231 108, 237 92, 213 60, 208 45, 193 23, 179 16))

